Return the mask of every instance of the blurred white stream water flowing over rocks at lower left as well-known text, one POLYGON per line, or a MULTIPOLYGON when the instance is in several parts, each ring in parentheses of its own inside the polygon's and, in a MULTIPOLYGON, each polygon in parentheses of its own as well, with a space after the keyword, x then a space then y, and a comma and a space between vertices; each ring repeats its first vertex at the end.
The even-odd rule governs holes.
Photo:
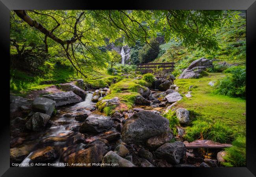
MULTIPOLYGON (((59 107, 60 114, 56 114, 50 120, 52 126, 45 128, 43 131, 32 132, 26 137, 26 142, 23 143, 23 147, 30 151, 30 154, 21 162, 22 164, 30 162, 30 156, 35 151, 40 151, 41 148, 46 146, 55 146, 56 149, 61 151, 61 148, 68 147, 70 151, 79 151, 84 149, 85 144, 75 144, 73 142, 74 136, 79 133, 79 127, 82 122, 78 122, 72 117, 64 116, 67 113, 70 114, 92 114, 90 107, 95 105, 92 100, 93 94, 87 94, 85 101, 76 103, 74 105, 68 105, 59 107)), ((98 136, 85 135, 85 142, 90 142, 97 139, 98 136)), ((60 155, 61 157, 61 155, 60 155)), ((60 163, 61 159, 55 161, 60 163)), ((20 165, 22 167, 22 165, 20 165)))

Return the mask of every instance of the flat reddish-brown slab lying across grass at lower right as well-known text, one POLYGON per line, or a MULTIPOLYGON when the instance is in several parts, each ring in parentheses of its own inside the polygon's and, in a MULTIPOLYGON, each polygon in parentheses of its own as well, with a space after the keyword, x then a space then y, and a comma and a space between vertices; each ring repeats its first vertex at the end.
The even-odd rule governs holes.
POLYGON ((195 148, 217 148, 222 149, 225 147, 231 147, 232 144, 225 144, 225 143, 219 143, 214 142, 211 140, 196 140, 190 143, 185 143, 185 146, 187 149, 195 149, 195 148))

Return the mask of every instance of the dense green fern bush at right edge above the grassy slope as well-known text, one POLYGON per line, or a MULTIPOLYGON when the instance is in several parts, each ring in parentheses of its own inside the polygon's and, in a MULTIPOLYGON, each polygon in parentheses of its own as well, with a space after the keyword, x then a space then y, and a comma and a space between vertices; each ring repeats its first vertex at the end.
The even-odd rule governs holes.
POLYGON ((246 96, 246 69, 244 67, 231 67, 225 70, 225 73, 230 73, 216 83, 216 92, 230 97, 246 96))

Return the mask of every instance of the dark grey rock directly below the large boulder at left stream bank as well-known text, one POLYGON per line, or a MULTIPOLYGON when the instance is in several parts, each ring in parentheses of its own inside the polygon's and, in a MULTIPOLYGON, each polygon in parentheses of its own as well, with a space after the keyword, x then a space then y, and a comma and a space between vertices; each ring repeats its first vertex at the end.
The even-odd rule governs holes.
POLYGON ((46 123, 50 119, 50 116, 43 114, 41 112, 36 112, 31 116, 31 118, 26 122, 26 128, 33 131, 40 131, 45 127, 46 123))

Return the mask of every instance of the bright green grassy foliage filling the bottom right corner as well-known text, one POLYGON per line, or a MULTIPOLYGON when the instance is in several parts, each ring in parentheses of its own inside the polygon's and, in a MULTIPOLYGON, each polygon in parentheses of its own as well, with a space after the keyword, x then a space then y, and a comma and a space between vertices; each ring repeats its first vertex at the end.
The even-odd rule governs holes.
POLYGON ((227 155, 223 157, 226 162, 222 165, 229 167, 245 167, 246 166, 246 137, 238 136, 232 142, 232 147, 225 149, 227 155))

